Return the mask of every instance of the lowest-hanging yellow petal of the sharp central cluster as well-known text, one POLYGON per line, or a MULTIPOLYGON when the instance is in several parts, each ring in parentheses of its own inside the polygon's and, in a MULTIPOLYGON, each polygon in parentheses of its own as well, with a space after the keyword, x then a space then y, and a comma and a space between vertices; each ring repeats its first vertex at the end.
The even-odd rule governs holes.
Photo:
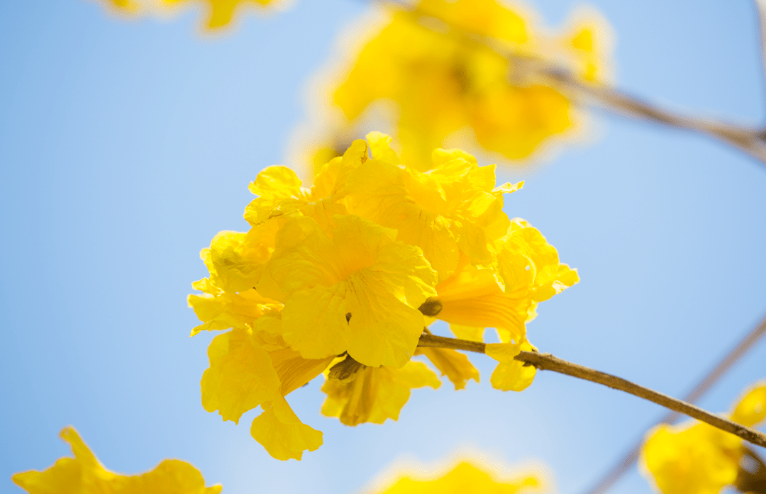
POLYGON ((300 460, 303 451, 316 451, 322 446, 322 432, 303 424, 282 396, 263 408, 264 412, 253 420, 250 435, 277 460, 300 460))

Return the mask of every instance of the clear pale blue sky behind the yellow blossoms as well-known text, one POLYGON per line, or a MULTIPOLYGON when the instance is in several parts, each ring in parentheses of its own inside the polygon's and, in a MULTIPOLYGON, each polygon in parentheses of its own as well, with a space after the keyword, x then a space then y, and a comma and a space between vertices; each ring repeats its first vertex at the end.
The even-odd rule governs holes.
MULTIPOLYGON (((619 87, 681 110, 758 123, 764 80, 749 0, 598 0, 619 87)), ((558 26, 569 0, 530 4, 558 26)), ((362 15, 354 0, 296 0, 217 37, 198 11, 126 21, 90 0, 0 2, 0 491, 68 455, 71 424, 107 468, 193 463, 226 494, 353 494, 403 457, 456 448, 548 466, 558 492, 590 486, 664 411, 539 372, 522 393, 414 390, 400 420, 319 415, 319 381, 290 395, 324 432, 302 462, 273 460, 208 414, 199 380, 213 335, 188 338, 198 252, 245 230, 260 168, 283 162, 306 79, 362 15)), ((766 315, 766 167, 715 142, 594 114, 594 142, 525 178, 506 211, 538 227, 581 283, 529 324, 542 352, 680 396, 766 315)), ((483 163, 486 164, 486 163, 483 163)), ((700 402, 725 411, 766 378, 766 340, 700 402)), ((633 471, 614 492, 650 492, 633 471)))

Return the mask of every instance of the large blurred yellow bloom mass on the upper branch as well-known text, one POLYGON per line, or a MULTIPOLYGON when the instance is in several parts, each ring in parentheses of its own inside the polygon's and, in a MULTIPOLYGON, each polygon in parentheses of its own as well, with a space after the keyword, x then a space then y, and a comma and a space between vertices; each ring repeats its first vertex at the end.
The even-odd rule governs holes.
POLYGON ((414 12, 395 12, 363 47, 333 100, 352 122, 376 100, 393 101, 402 158, 421 170, 431 149, 466 126, 486 149, 524 158, 572 126, 571 102, 543 83, 513 82, 516 66, 519 60, 563 60, 596 79, 599 33, 593 23, 588 28, 562 45, 495 0, 424 0, 414 12), (470 34, 491 38, 519 60, 509 61, 470 34))

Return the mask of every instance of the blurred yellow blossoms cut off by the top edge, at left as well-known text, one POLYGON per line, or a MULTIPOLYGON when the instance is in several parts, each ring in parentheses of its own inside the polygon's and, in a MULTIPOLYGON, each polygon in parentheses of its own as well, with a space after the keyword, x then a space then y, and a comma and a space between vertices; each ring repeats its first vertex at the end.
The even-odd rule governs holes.
POLYGON ((264 8, 279 3, 279 0, 103 0, 111 8, 122 14, 144 15, 147 12, 166 14, 171 8, 180 5, 205 4, 205 28, 215 30, 224 28, 234 19, 237 11, 255 6, 264 8))

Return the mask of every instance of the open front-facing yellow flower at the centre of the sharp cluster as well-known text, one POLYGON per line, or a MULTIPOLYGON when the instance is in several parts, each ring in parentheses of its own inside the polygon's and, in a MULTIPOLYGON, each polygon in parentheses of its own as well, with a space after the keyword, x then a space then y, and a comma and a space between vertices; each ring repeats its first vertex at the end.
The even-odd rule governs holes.
POLYGON ((349 352, 364 365, 404 365, 424 327, 417 310, 436 273, 396 231, 336 216, 329 237, 312 218, 290 218, 258 292, 284 304, 283 338, 304 358, 349 352))

